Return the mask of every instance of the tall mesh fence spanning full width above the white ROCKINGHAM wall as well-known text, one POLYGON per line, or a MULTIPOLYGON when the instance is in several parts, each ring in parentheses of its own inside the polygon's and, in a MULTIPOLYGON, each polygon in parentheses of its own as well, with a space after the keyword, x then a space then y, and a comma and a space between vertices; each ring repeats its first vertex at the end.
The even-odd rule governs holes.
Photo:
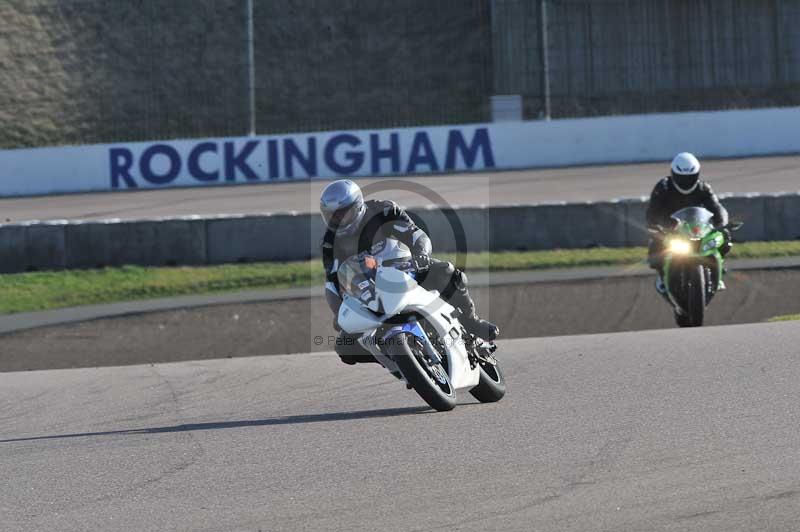
POLYGON ((0 147, 800 105, 800 0, 4 0, 0 147))

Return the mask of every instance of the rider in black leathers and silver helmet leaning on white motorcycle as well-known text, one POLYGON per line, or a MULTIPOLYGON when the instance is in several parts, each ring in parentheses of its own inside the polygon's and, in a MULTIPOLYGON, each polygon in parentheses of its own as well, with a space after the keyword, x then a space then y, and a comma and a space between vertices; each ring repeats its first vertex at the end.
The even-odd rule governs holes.
MULTIPOLYGON (((349 257, 387 237, 395 238, 411 250, 417 270, 417 280, 428 290, 438 290, 441 296, 461 311, 461 323, 468 332, 494 340, 499 329, 480 319, 467 290, 467 276, 451 263, 431 258, 431 241, 408 214, 392 201, 364 201, 358 186, 350 180, 328 185, 320 199, 320 210, 327 230, 322 239, 322 263, 325 268, 325 297, 334 314, 334 327, 340 330, 336 317, 342 303, 337 271, 349 257)), ((336 352, 346 364, 374 362, 355 339, 360 335, 341 332, 336 352)))

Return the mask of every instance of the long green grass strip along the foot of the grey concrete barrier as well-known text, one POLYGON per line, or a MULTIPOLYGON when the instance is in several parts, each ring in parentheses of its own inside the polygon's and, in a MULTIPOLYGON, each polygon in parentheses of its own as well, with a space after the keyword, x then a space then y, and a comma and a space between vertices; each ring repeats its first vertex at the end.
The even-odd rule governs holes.
MULTIPOLYGON (((539 270, 641 263, 646 249, 593 248, 472 253, 469 271, 539 270)), ((438 255, 455 260, 454 255, 438 255)), ((733 257, 800 256, 800 241, 737 244, 733 257)), ((322 282, 319 260, 202 267, 125 266, 0 275, 0 314, 190 294, 302 287, 322 282)))

